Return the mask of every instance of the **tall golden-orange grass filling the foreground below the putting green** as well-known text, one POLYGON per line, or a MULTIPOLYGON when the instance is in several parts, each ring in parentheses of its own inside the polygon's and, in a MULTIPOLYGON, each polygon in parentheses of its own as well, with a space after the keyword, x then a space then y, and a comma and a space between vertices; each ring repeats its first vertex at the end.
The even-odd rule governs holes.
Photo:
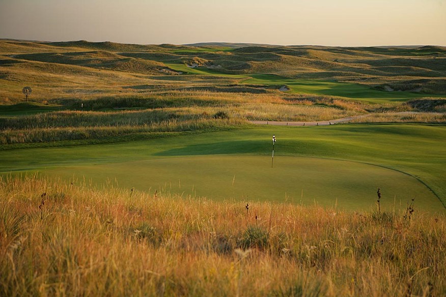
POLYGON ((252 201, 247 212, 36 176, 0 180, 0 197, 0 295, 446 293, 444 216, 252 201))

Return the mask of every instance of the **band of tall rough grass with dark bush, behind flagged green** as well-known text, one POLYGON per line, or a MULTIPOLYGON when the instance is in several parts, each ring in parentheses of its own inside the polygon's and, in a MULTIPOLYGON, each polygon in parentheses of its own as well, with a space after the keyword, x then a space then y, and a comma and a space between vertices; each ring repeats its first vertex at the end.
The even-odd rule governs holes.
POLYGON ((325 97, 164 91, 59 105, 0 106, 0 143, 104 138, 161 131, 227 129, 249 120, 323 121, 365 113, 367 105, 325 97), (70 109, 54 111, 58 109, 70 109), (73 110, 74 109, 74 110, 73 110), (94 111, 101 110, 101 111, 94 111), (218 113, 226 117, 218 120, 218 113))

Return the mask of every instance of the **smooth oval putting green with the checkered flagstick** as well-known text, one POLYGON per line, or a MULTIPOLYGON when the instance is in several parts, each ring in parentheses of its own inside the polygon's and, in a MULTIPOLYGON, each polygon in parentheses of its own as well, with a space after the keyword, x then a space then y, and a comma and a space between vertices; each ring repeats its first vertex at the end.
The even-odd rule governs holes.
POLYGON ((211 155, 171 157, 53 167, 48 176, 86 178, 101 187, 116 180, 120 187, 137 190, 244 201, 318 203, 342 209, 370 210, 381 188, 384 209, 404 209, 410 198, 423 211, 444 206, 422 183, 407 174, 350 161, 276 156, 211 155))

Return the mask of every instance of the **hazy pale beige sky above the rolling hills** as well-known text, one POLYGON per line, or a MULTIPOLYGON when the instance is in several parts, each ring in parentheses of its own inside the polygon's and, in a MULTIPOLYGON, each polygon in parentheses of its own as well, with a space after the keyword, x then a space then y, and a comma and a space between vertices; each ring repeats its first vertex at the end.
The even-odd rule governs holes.
POLYGON ((0 0, 0 38, 446 46, 446 0, 0 0))

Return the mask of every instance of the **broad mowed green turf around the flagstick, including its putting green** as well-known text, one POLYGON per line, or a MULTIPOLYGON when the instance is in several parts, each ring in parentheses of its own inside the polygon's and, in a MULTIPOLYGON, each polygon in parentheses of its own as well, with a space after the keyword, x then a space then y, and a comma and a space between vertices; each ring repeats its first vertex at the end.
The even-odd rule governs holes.
POLYGON ((0 170, 85 177, 97 186, 116 180, 119 187, 210 199, 316 202, 350 210, 374 207, 380 187, 386 209, 404 208, 415 198, 419 210, 444 212, 439 198, 445 193, 445 134, 443 127, 424 125, 263 126, 1 151, 0 170))

